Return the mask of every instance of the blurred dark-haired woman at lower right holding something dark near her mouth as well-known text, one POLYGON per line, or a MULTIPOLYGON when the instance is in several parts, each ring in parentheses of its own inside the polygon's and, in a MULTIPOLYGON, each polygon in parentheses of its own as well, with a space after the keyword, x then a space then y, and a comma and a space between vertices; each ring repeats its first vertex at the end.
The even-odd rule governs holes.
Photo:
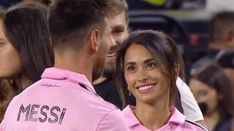
POLYGON ((192 76, 189 86, 203 112, 209 131, 231 131, 234 127, 234 89, 224 70, 215 64, 192 76))

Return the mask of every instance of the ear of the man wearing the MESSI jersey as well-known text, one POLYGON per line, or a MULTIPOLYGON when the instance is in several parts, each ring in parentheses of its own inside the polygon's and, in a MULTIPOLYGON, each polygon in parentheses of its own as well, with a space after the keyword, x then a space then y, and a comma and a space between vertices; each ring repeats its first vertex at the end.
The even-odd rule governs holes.
POLYGON ((98 52, 100 44, 100 32, 93 30, 90 35, 90 49, 92 52, 98 52))

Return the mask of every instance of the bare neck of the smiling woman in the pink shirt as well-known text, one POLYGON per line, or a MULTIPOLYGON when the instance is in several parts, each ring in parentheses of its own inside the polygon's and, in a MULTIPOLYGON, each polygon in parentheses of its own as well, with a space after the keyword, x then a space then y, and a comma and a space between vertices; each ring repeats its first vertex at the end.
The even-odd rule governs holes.
POLYGON ((156 130, 162 127, 168 122, 171 115, 168 103, 158 103, 153 106, 147 104, 136 104, 136 110, 134 113, 138 120, 150 130, 156 130))

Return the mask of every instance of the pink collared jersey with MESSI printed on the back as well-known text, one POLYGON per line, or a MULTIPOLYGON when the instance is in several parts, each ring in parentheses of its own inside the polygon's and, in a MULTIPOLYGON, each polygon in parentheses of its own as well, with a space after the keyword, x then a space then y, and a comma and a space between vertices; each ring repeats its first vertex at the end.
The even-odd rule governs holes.
POLYGON ((2 131, 126 131, 119 109, 100 98, 88 79, 48 68, 11 101, 2 131))

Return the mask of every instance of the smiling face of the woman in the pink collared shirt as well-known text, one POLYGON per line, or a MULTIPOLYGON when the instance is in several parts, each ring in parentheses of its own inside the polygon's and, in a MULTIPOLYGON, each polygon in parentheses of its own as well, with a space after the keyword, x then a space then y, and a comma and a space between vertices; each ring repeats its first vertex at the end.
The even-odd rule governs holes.
POLYGON ((169 81, 159 69, 158 62, 144 46, 133 43, 127 49, 124 76, 128 90, 136 97, 137 103, 169 101, 169 81))

